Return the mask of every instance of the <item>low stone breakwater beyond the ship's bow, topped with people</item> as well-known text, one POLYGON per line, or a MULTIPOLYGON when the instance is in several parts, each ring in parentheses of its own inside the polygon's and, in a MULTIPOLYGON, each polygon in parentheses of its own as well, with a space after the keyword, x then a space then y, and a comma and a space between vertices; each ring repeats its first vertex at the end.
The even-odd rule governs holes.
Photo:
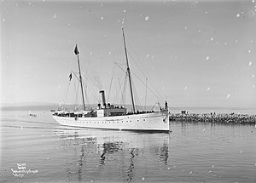
POLYGON ((170 114, 170 121, 211 123, 256 123, 256 115, 248 114, 170 114))

